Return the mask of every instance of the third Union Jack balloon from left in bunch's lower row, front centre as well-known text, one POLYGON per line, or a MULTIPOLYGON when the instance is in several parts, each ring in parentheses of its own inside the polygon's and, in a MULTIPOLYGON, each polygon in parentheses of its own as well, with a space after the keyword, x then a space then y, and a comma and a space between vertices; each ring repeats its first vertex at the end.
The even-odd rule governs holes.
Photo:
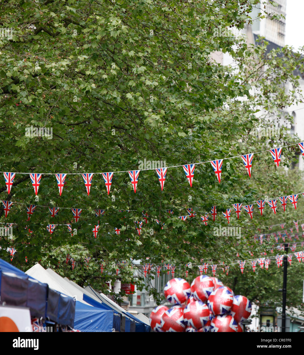
POLYGON ((202 301, 194 301, 187 304, 184 309, 184 322, 186 326, 195 329, 202 328, 209 321, 209 308, 202 301))

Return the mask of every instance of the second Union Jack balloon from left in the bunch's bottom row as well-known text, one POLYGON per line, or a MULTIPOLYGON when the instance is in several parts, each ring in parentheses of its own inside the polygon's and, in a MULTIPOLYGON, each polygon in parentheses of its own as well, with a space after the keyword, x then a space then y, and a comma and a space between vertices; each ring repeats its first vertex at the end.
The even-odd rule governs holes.
POLYGON ((165 311, 161 317, 161 328, 164 332, 184 332, 184 307, 175 305, 165 311))

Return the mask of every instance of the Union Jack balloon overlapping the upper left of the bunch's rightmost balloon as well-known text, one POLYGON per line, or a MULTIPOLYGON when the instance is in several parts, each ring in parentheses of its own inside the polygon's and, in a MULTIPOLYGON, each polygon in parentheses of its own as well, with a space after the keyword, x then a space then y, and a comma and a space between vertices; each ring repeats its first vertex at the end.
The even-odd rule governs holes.
POLYGON ((214 315, 223 315, 230 311, 233 304, 233 293, 228 287, 219 287, 208 298, 208 307, 214 315))

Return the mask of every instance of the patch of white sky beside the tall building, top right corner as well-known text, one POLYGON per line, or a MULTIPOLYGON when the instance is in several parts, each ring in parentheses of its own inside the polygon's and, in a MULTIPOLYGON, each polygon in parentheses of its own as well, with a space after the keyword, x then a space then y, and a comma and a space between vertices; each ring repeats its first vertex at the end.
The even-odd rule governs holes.
POLYGON ((285 44, 295 49, 304 45, 303 35, 304 0, 286 1, 286 37, 285 44))

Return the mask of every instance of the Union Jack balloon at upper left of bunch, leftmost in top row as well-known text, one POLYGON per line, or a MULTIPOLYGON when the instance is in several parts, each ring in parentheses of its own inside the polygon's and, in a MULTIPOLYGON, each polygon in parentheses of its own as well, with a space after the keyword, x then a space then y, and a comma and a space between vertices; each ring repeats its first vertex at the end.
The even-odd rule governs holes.
POLYGON ((181 304, 190 297, 190 285, 185 279, 174 278, 167 282, 164 288, 166 299, 173 304, 181 304))

